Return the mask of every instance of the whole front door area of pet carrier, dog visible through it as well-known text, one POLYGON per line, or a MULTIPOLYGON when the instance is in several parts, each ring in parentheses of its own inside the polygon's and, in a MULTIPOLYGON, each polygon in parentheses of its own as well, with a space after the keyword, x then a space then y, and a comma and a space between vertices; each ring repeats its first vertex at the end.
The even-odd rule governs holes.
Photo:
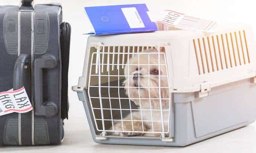
POLYGON ((91 55, 88 96, 99 132, 169 135, 171 86, 162 48, 97 46, 91 55))

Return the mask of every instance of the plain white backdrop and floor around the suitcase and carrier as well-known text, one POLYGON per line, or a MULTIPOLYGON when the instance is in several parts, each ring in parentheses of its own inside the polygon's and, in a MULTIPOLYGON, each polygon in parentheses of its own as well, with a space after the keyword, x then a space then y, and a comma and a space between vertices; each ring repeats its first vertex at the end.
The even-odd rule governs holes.
MULTIPOLYGON (((17 4, 18 0, 0 0, 0 4, 17 4)), ((37 3, 62 3, 64 21, 72 26, 69 89, 78 82, 82 74, 85 55, 86 37, 82 35, 88 27, 84 19, 85 6, 104 6, 118 4, 146 3, 149 10, 162 11, 171 9, 188 13, 196 17, 218 21, 218 23, 249 23, 256 27, 254 1, 251 0, 36 0, 37 3), (210 7, 209 7, 210 6, 210 7), (242 9, 242 10, 241 10, 242 9), (218 10, 218 11, 216 11, 218 10)), ((254 35, 256 33, 254 31, 254 35)), ((0 153, 69 153, 69 152, 104 152, 104 153, 255 153, 256 123, 247 127, 207 139, 187 147, 148 147, 129 145, 96 144, 91 138, 82 103, 76 93, 69 91, 70 116, 65 122, 65 139, 59 146, 39 147, 1 147, 0 153)), ((210 125, 209 125, 210 126, 210 125)))

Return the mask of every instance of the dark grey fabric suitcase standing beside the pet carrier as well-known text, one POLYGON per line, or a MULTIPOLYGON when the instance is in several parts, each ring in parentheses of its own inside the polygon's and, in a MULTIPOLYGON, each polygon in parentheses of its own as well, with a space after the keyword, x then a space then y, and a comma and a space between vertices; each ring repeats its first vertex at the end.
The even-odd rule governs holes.
POLYGON ((61 144, 70 25, 58 4, 0 6, 0 92, 25 87, 33 110, 0 116, 0 145, 61 144))

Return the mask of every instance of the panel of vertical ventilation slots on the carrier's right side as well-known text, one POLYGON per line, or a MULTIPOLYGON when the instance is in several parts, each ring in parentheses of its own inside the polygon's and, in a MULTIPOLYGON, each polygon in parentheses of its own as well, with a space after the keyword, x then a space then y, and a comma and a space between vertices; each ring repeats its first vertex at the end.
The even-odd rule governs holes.
POLYGON ((250 63, 245 30, 193 40, 198 74, 250 63))

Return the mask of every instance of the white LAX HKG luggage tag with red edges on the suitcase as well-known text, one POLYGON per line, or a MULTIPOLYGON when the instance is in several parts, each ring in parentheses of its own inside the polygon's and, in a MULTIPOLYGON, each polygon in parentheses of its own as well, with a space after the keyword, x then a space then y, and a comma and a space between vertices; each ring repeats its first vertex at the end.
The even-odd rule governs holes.
POLYGON ((33 109, 24 87, 0 92, 0 116, 11 113, 27 113, 33 109))

